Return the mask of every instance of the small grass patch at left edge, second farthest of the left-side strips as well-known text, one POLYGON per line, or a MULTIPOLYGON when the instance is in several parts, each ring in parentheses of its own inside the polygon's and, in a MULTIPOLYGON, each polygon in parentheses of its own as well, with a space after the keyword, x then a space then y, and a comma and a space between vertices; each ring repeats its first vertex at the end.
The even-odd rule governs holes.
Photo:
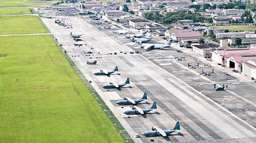
POLYGON ((31 14, 29 8, 0 8, 0 15, 31 14))

